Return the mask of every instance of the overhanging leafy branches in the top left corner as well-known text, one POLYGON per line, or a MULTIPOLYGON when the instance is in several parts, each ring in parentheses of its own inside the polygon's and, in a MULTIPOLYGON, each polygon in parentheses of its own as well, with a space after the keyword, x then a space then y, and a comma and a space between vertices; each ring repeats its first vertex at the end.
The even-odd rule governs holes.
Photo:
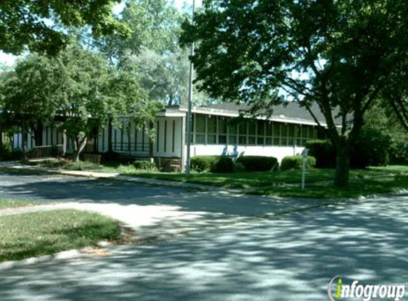
POLYGON ((95 36, 129 31, 112 14, 120 0, 1 0, 0 49, 20 54, 25 50, 55 54, 66 46, 69 36, 61 26, 91 26, 95 36))

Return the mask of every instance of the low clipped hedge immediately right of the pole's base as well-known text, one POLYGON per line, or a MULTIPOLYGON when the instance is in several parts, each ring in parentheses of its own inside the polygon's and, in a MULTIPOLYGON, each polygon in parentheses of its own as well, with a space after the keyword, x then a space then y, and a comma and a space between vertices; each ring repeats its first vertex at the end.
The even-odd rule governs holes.
POLYGON ((190 159, 192 170, 199 173, 211 171, 211 173, 232 173, 234 162, 226 155, 196 155, 190 159))

